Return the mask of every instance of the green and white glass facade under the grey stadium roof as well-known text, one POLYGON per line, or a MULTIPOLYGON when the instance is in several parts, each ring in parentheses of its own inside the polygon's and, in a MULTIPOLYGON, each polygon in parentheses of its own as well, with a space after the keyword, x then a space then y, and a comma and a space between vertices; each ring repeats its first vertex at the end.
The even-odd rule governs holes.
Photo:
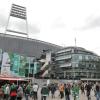
POLYGON ((26 57, 12 52, 3 52, 0 49, 0 73, 10 76, 29 77, 40 66, 34 67, 35 57, 26 57), (9 72, 9 73, 8 73, 9 72))

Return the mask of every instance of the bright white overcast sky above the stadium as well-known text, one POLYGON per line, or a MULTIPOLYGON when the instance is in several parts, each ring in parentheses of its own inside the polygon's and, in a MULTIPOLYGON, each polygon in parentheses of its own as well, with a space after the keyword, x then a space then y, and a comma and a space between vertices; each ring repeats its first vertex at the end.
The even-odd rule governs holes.
MULTIPOLYGON (((100 55, 100 0, 1 0, 1 32, 12 3, 27 7, 31 38, 65 47, 75 46, 76 38, 77 46, 100 55)), ((13 19, 10 22, 13 24, 13 19)), ((20 21, 16 27, 24 25, 20 21)))

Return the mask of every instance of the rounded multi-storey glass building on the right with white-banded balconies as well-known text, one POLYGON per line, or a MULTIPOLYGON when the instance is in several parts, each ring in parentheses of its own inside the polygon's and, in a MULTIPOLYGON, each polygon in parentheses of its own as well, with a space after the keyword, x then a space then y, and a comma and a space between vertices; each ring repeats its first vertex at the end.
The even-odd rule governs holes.
POLYGON ((57 68, 60 68, 61 72, 55 73, 59 78, 100 78, 100 57, 98 55, 80 47, 68 47, 62 51, 56 53, 57 68))

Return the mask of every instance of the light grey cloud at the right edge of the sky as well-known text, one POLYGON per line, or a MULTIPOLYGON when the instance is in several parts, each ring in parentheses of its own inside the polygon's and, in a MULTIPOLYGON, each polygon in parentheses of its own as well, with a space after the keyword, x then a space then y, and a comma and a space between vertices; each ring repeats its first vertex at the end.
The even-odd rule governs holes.
POLYGON ((98 17, 90 16, 86 20, 86 25, 79 28, 78 30, 88 30, 88 29, 99 28, 99 27, 100 27, 100 16, 98 17))

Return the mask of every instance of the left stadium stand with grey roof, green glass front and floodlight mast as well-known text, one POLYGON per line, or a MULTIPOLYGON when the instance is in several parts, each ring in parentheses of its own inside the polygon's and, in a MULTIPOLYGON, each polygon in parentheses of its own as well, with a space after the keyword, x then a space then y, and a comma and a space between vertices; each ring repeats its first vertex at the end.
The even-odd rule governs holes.
POLYGON ((29 38, 26 7, 12 4, 5 33, 0 33, 0 70, 2 75, 33 76, 37 69, 40 69, 40 66, 37 67, 39 64, 34 64, 34 61, 40 58, 43 51, 55 52, 61 48, 55 44, 29 38), (19 23, 22 22, 25 23, 25 31, 17 29, 19 23))

